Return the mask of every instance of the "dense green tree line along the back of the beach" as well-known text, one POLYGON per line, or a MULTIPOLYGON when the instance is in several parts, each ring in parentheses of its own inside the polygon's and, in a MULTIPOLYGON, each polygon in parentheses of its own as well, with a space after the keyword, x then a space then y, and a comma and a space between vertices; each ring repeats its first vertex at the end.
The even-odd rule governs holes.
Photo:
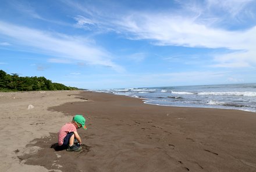
POLYGON ((43 76, 20 77, 18 74, 9 75, 0 70, 0 92, 39 90, 77 90, 77 88, 54 83, 43 76))

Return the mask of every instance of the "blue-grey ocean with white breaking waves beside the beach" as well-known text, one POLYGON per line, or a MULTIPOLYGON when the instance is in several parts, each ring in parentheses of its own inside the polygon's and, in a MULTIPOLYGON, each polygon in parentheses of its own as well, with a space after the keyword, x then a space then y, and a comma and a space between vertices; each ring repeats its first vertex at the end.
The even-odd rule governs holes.
POLYGON ((94 90, 143 98, 146 104, 256 112, 256 83, 94 90))

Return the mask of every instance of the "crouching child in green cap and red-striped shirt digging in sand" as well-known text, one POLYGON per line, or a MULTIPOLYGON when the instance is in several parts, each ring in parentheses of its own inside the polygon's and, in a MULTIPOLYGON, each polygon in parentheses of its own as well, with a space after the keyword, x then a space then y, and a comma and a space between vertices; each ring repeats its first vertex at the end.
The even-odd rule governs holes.
POLYGON ((72 122, 62 126, 58 133, 58 145, 67 151, 80 151, 82 141, 76 129, 83 127, 86 130, 85 122, 86 119, 82 115, 75 115, 72 122), (77 145, 74 144, 75 139, 79 142, 77 145))

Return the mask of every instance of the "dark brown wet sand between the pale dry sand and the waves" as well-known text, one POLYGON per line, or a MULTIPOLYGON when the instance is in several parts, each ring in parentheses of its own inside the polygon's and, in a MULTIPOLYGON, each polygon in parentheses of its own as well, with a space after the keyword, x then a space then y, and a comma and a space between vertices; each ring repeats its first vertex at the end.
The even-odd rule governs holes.
POLYGON ((49 148, 56 143, 57 133, 52 132, 28 145, 42 149, 20 156, 26 164, 61 171, 256 170, 254 112, 164 107, 145 104, 140 98, 90 91, 80 92, 79 97, 86 101, 49 110, 69 120, 75 114, 86 117, 88 129, 79 130, 83 151, 49 148))

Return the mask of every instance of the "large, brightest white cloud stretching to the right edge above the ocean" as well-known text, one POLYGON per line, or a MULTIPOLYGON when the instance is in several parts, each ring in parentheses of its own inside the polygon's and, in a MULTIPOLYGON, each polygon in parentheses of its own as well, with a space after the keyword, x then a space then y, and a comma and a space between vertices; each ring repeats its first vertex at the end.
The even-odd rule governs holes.
POLYGON ((215 57, 219 67, 247 67, 256 64, 254 50, 256 27, 243 31, 228 31, 198 23, 193 18, 152 13, 137 13, 126 16, 123 20, 116 21, 115 24, 122 32, 130 32, 133 35, 130 36, 131 39, 148 39, 159 46, 174 45, 240 50, 239 53, 222 54, 215 57), (222 59, 226 59, 225 63, 222 59), (236 62, 242 65, 232 65, 236 62))

